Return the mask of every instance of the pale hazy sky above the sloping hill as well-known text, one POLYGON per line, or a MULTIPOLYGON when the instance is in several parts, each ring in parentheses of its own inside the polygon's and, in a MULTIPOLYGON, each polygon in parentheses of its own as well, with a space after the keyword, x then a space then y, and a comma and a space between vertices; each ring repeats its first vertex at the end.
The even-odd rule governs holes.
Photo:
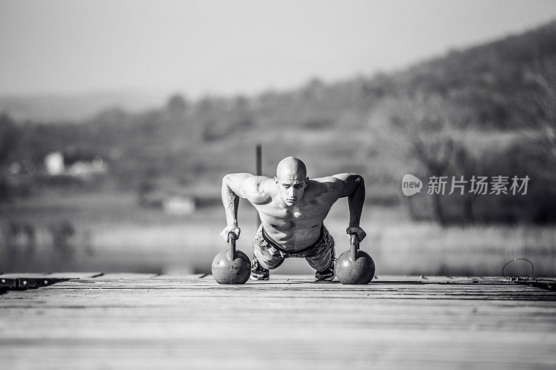
POLYGON ((548 0, 1 0, 0 94, 256 94, 391 72, 553 19, 548 0))

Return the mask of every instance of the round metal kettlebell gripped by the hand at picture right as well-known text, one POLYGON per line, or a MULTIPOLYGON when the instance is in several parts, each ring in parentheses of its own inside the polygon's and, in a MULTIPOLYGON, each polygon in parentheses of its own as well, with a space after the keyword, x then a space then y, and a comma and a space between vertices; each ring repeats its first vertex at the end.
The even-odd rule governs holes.
POLYGON ((359 250, 359 237, 352 234, 351 248, 338 257, 336 276, 342 284, 368 284, 375 277, 375 261, 359 250))

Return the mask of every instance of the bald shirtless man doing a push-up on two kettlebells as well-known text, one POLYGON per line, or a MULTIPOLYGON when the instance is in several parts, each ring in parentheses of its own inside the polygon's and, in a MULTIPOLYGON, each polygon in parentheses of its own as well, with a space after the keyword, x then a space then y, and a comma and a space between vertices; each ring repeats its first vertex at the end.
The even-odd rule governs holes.
POLYGON ((348 238, 356 233, 363 240, 366 233, 359 227, 359 220, 365 183, 357 174, 309 180, 304 163, 294 157, 279 162, 275 178, 228 174, 222 179, 227 226, 220 235, 226 241, 230 232, 239 237, 239 199, 247 199, 261 217, 253 241, 252 279, 268 280, 269 270, 279 267, 284 258, 303 257, 316 269, 317 280, 333 280, 334 239, 322 221, 332 205, 344 196, 350 208, 348 238))

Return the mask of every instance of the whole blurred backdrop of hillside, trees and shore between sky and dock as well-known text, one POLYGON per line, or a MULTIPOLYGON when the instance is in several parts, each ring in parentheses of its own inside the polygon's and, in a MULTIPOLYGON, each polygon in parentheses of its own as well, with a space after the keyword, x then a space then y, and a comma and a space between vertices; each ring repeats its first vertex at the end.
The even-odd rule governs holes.
MULTIPOLYGON (((552 22, 391 74, 256 96, 177 93, 140 112, 44 121, 15 118, 44 104, 0 99, 0 269, 208 271, 223 247, 220 180, 253 172, 261 143, 267 176, 295 155, 311 177, 366 178, 377 274, 498 275, 525 253, 554 275, 555 66, 552 22), (50 153, 63 156, 60 173, 48 171, 50 153), (407 173, 531 180, 526 195, 404 197, 407 173)), ((241 207, 249 251, 254 215, 241 207)), ((338 233, 343 208, 329 217, 338 233)), ((284 271, 306 271, 295 263, 284 271)))

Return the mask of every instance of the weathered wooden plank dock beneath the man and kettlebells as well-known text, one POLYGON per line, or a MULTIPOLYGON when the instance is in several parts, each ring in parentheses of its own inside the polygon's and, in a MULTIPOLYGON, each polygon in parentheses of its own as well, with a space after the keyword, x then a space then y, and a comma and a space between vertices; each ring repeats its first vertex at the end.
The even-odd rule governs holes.
POLYGON ((556 367, 556 292, 504 278, 0 278, 38 286, 0 295, 1 369, 556 367))

